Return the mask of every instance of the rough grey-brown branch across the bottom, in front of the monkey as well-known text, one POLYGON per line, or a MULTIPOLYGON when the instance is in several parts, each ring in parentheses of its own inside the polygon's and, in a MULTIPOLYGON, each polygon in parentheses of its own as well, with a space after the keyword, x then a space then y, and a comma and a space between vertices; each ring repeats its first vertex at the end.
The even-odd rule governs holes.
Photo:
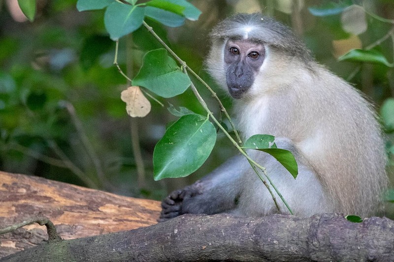
POLYGON ((20 261, 393 261, 394 221, 352 223, 338 214, 183 215, 127 232, 49 242, 20 261))

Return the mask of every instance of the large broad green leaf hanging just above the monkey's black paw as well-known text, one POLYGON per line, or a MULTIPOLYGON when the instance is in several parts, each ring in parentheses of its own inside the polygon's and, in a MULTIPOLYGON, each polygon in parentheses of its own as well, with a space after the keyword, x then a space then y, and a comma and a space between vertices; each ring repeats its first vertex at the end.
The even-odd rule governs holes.
POLYGON ((208 118, 182 116, 165 132, 153 152, 154 179, 184 177, 208 158, 216 142, 216 130, 208 118))

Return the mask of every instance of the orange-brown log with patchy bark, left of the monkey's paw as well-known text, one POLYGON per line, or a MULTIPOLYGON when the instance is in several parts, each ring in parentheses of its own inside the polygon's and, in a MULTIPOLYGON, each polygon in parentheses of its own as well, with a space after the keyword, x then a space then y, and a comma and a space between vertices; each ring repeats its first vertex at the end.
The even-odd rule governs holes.
MULTIPOLYGON (((0 229, 47 217, 62 238, 71 239, 150 226, 160 211, 158 201, 0 172, 0 229)), ((47 240, 46 228, 38 224, 0 234, 0 258, 47 240)))

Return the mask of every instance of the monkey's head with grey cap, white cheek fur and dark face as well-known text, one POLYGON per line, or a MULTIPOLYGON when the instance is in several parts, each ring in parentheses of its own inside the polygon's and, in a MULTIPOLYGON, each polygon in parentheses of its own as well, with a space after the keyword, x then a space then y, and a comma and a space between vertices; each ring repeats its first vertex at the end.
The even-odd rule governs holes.
POLYGON ((210 33, 208 71, 235 99, 253 98, 297 77, 313 60, 286 26, 260 13, 237 14, 210 33))

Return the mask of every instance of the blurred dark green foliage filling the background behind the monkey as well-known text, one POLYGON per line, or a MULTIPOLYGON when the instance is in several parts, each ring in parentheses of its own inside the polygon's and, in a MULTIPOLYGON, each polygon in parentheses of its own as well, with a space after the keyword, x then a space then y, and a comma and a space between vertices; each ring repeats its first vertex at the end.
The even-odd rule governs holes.
MULTIPOLYGON (((104 10, 78 12, 75 0, 36 0, 31 23, 15 11, 13 5, 17 2, 0 0, 0 170, 161 199, 167 191, 189 184, 236 153, 230 142, 219 135, 213 153, 196 175, 153 181, 154 145, 163 136, 166 124, 176 117, 153 100, 147 117, 131 120, 127 116, 120 99, 127 81, 113 65, 115 43, 104 28, 104 10), (133 156, 131 126, 138 128, 146 172, 143 177, 138 175, 138 160, 133 156)), ((392 100, 381 105, 394 94, 393 68, 337 58, 349 51, 347 44, 365 48, 388 35, 393 24, 379 18, 394 19, 394 2, 341 1, 344 5, 339 7, 334 2, 192 0, 202 11, 198 21, 187 21, 180 28, 167 28, 152 19, 146 22, 215 88, 203 67, 209 29, 234 12, 260 10, 276 17, 305 40, 320 63, 374 101, 387 121, 382 123, 392 161, 394 106, 392 100), (357 35, 346 31, 341 22, 344 8, 352 3, 373 14, 365 16, 366 30, 357 35), (342 9, 328 14, 329 8, 342 9)), ((393 63, 393 42, 392 33, 373 49, 388 63, 393 63)), ((137 29, 131 36, 120 38, 118 63, 134 77, 143 55, 160 47, 146 29, 137 29)), ((208 91, 202 86, 197 88, 219 116, 219 108, 208 91)), ((217 87, 215 90, 225 107, 230 108, 225 92, 217 87)), ((165 107, 171 103, 204 114, 190 90, 175 98, 159 99, 165 107)))

